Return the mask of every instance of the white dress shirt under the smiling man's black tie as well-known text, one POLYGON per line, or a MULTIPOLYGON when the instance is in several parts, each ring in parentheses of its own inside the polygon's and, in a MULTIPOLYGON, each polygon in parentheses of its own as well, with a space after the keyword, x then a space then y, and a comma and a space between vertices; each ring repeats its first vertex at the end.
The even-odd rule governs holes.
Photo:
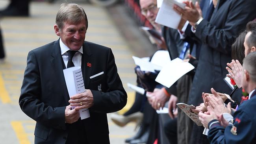
MULTIPOLYGON (((60 46, 60 51, 61 51, 61 56, 64 61, 64 64, 67 68, 67 64, 69 61, 69 56, 67 51, 70 50, 62 41, 59 39, 59 46, 60 46)), ((82 63, 82 54, 83 54, 83 46, 74 54, 72 58, 72 62, 74 63, 74 66, 81 66, 82 63)))

